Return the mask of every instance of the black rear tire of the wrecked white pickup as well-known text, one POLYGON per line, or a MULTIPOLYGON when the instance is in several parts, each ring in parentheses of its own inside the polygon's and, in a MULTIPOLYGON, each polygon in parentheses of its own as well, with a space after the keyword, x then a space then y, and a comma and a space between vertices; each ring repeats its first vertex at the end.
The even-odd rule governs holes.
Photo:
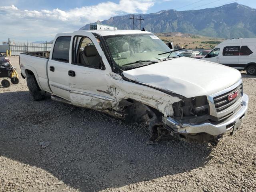
POLYGON ((41 101, 45 99, 45 91, 40 89, 34 75, 28 74, 27 86, 34 101, 41 101))

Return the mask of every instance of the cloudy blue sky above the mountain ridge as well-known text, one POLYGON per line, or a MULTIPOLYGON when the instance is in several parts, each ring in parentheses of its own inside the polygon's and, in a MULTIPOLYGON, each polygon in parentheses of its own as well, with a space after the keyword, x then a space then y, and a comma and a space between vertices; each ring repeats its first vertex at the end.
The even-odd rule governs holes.
POLYGON ((256 8, 256 0, 0 0, 0 44, 10 40, 53 40, 58 32, 124 14, 214 8, 237 2, 256 8))

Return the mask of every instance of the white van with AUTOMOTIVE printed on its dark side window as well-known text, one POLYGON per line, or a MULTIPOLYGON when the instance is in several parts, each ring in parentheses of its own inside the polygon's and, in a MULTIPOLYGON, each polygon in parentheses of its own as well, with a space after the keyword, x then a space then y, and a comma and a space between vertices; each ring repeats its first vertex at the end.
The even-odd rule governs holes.
POLYGON ((202 58, 256 75, 256 38, 229 39, 202 58))

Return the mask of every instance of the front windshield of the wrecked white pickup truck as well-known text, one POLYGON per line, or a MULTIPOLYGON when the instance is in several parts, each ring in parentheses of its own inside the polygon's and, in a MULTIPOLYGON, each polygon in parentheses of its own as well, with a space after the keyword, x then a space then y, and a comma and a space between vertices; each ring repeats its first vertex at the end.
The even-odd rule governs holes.
MULTIPOLYGON (((154 34, 125 34, 104 37, 115 64, 122 67, 143 61, 159 61, 170 55, 170 48, 154 34)), ((152 62, 154 63, 154 62, 152 62)))

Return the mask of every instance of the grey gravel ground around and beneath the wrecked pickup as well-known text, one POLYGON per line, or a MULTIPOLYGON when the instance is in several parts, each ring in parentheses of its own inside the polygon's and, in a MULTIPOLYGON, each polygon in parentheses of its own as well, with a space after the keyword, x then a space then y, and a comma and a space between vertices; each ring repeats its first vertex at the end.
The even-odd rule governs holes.
POLYGON ((144 130, 106 114, 34 102, 22 78, 0 86, 0 191, 256 191, 256 77, 242 76, 248 115, 216 147, 146 145, 144 130))

